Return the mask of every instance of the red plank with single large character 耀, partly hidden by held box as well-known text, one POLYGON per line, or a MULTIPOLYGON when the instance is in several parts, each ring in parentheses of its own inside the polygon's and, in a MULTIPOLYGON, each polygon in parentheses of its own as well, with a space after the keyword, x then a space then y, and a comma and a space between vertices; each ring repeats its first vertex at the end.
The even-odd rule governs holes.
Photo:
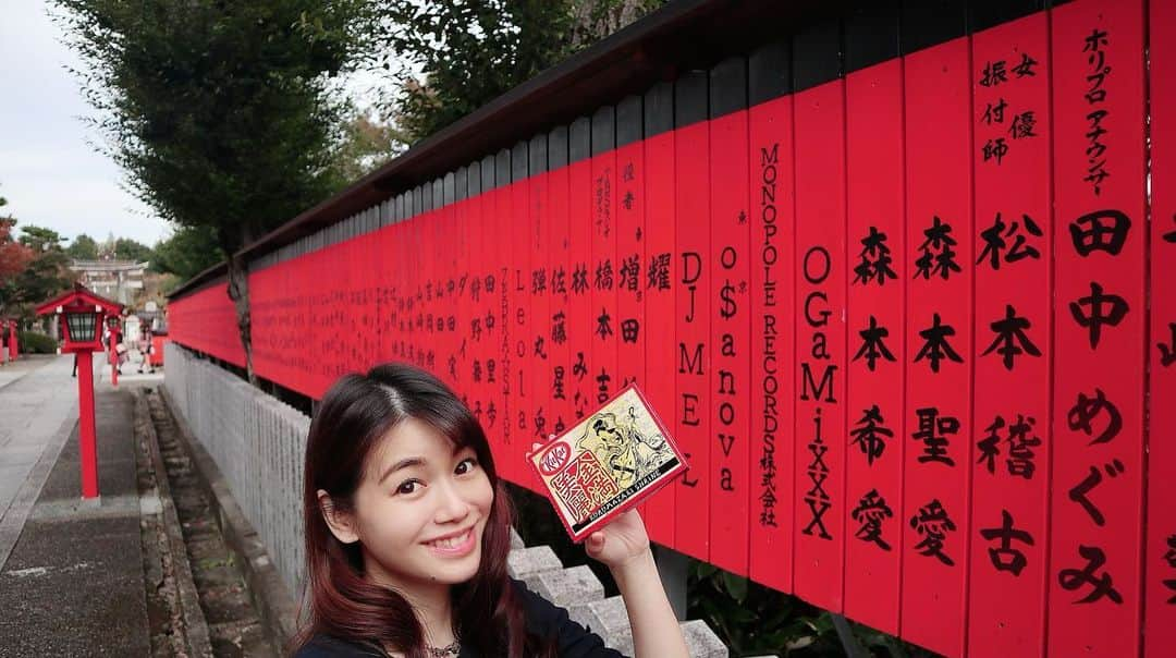
MULTIPOLYGON (((677 344, 667 337, 674 335, 674 133, 666 132, 643 141, 644 164, 642 175, 643 195, 639 202, 644 212, 644 272, 641 287, 644 291, 644 321, 641 331, 653 340, 646 340, 644 359, 648 384, 642 391, 650 406, 674 427, 671 420, 677 414, 675 368, 677 367, 677 344)), ((677 434, 674 436, 677 440, 677 434)), ((662 546, 673 549, 675 496, 677 485, 662 487, 646 504, 646 529, 649 538, 662 546)))

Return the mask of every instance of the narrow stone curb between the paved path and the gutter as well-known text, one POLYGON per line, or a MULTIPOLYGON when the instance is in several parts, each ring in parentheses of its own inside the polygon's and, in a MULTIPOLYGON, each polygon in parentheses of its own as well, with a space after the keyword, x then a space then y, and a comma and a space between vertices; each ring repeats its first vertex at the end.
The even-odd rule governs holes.
MULTIPOLYGON (((188 550, 183 543, 180 517, 175 512, 175 501, 172 500, 172 490, 167 481, 167 470, 163 466, 163 457, 159 451, 159 436, 155 433, 155 425, 151 420, 146 391, 142 388, 135 392, 134 431, 136 436, 143 439, 142 443, 147 447, 147 454, 154 473, 153 480, 155 497, 159 500, 159 516, 162 520, 163 532, 167 534, 167 550, 172 558, 172 576, 175 578, 176 596, 179 597, 180 611, 183 618, 185 649, 189 656, 211 658, 213 647, 208 634, 208 623, 205 619, 203 611, 200 609, 200 594, 196 593, 196 584, 192 579, 192 564, 188 561, 188 550)), ((154 510, 143 511, 154 512, 154 510)))

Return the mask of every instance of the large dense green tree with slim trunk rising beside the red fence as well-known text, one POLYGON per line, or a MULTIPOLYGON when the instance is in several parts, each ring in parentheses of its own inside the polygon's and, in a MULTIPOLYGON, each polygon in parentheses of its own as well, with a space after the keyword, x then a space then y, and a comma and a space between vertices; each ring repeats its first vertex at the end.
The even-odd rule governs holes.
POLYGON ((252 377, 248 279, 234 254, 341 185, 366 0, 54 0, 87 100, 131 188, 163 219, 212 227, 252 377))

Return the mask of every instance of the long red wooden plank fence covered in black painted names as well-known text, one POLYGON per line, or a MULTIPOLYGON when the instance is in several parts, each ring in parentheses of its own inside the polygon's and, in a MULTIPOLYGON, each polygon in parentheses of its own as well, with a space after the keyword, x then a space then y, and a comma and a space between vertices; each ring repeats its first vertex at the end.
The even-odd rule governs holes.
MULTIPOLYGON (((252 273, 256 373, 319 398, 420 364, 529 487, 529 443, 635 379, 691 464, 646 505, 657 543, 950 656, 1170 654, 1176 2, 733 101, 761 65, 252 273)), ((171 325, 243 363, 223 285, 171 325)))

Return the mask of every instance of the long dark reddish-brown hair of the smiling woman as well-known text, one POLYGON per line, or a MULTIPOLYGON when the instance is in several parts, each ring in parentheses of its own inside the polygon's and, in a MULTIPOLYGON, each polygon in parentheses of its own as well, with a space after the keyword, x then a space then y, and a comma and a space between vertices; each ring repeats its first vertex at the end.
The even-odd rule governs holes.
POLYGON ((363 578, 359 544, 343 544, 330 533, 316 496, 321 488, 336 510, 353 512, 368 454, 407 418, 428 423, 456 445, 472 447, 494 488, 477 573, 453 589, 461 643, 482 656, 554 654, 549 640, 527 633, 521 604, 507 578, 513 512, 486 433, 445 384, 403 364, 342 377, 310 423, 302 487, 309 610, 300 614, 307 623, 293 646, 296 650, 322 633, 381 650, 390 646, 408 658, 426 656, 423 631, 412 605, 394 590, 363 578))

